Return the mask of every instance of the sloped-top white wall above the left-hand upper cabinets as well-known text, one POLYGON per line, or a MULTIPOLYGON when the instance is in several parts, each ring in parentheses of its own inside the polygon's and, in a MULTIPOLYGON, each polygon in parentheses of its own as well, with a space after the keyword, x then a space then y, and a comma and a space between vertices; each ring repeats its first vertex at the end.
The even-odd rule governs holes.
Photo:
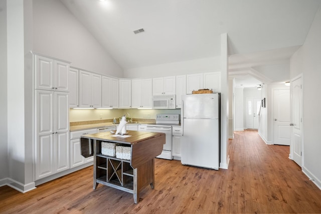
POLYGON ((34 0, 33 51, 72 62, 72 66, 114 77, 122 68, 60 1, 34 0))

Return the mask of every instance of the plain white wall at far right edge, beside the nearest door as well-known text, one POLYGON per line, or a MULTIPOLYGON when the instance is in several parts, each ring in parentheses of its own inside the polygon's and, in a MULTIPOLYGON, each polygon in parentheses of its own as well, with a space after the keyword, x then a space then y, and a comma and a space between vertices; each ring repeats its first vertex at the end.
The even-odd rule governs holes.
MULTIPOLYGON (((319 96, 321 80, 321 8, 316 13, 306 40, 292 59, 300 62, 303 73, 303 164, 302 170, 321 188, 321 114, 319 96)), ((291 75, 297 71, 292 68, 291 75)), ((292 76, 294 77, 294 76, 292 76)))

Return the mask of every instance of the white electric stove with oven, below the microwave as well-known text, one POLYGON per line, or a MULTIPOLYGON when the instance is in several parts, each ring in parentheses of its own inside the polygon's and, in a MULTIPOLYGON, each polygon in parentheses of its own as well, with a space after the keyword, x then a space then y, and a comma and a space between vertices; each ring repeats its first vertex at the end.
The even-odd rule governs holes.
POLYGON ((156 123, 147 125, 146 131, 165 133, 166 143, 163 146, 162 154, 158 155, 158 158, 173 159, 172 153, 172 125, 180 124, 179 114, 157 114, 156 123))

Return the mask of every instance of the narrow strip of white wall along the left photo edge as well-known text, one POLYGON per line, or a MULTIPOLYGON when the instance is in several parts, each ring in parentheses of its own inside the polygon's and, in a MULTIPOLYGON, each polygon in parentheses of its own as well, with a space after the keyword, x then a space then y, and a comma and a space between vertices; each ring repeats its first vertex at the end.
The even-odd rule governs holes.
POLYGON ((0 186, 8 177, 8 128, 7 128, 7 1, 0 0, 0 186))

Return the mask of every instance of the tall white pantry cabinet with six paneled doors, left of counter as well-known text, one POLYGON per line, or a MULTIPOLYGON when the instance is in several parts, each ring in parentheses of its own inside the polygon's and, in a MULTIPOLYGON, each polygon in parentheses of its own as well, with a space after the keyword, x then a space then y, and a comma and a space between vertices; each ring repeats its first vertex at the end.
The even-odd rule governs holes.
POLYGON ((70 168, 68 70, 35 55, 35 180, 70 168))

